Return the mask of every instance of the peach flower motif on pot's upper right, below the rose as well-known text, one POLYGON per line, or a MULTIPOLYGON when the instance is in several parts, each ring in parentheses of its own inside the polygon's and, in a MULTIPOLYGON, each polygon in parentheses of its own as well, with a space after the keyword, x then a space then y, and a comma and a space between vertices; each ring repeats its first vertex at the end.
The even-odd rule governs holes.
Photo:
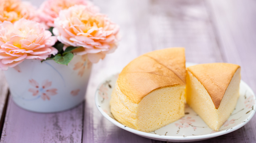
POLYGON ((83 76, 85 69, 90 69, 92 67, 92 63, 88 60, 87 55, 82 56, 82 60, 75 64, 73 70, 78 70, 78 76, 83 76))

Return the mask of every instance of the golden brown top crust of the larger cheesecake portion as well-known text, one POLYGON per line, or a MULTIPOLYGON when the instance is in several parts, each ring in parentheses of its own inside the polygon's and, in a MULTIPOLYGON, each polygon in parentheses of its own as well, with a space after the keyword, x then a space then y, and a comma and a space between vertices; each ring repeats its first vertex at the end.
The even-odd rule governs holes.
POLYGON ((185 49, 167 48, 131 61, 119 74, 117 84, 132 102, 139 103, 151 91, 185 85, 185 49))

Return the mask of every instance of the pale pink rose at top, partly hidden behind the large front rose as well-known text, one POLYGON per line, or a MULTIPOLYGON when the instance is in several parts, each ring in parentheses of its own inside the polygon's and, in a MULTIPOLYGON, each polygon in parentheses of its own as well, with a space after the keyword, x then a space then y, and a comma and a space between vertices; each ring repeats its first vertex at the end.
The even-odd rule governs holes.
POLYGON ((41 23, 45 24, 47 28, 54 27, 54 19, 58 17, 59 11, 68 9, 74 5, 86 5, 93 11, 98 12, 99 8, 94 6, 87 0, 48 0, 44 1, 39 8, 39 18, 41 23))

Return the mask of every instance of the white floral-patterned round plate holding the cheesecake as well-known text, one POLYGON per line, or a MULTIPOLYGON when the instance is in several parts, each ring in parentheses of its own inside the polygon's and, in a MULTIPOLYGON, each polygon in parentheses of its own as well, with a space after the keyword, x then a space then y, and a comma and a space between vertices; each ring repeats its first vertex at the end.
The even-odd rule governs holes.
MULTIPOLYGON (((193 64, 187 63, 187 65, 193 64)), ((187 142, 209 139, 233 132, 243 127, 249 122, 255 113, 255 95, 252 89, 241 80, 240 97, 236 108, 219 131, 216 132, 211 130, 204 121, 186 105, 185 116, 181 119, 150 133, 141 132, 122 125, 110 112, 109 102, 117 77, 118 74, 113 75, 99 85, 95 96, 96 106, 100 113, 113 124, 143 137, 171 142, 187 142)))

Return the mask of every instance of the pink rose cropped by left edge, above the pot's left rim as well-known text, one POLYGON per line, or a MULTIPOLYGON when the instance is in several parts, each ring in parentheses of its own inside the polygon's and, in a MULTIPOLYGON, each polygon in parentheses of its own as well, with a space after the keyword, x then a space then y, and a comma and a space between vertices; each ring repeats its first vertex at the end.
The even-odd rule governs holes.
POLYGON ((35 21, 20 19, 0 24, 0 68, 7 70, 24 59, 43 60, 57 54, 56 37, 35 21))

